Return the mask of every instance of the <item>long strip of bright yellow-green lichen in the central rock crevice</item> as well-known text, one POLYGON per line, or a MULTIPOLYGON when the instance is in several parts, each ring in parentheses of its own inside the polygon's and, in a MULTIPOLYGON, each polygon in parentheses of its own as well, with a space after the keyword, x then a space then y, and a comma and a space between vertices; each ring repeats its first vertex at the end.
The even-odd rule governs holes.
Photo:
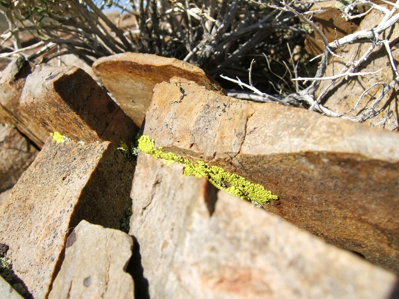
POLYGON ((209 166, 199 160, 193 163, 189 159, 173 152, 165 152, 162 147, 157 149, 155 148, 154 140, 147 135, 139 136, 137 144, 141 151, 158 159, 163 159, 168 166, 174 162, 183 163, 185 165, 184 174, 186 176, 206 177, 216 188, 251 201, 255 205, 268 204, 270 201, 278 199, 276 195, 273 195, 262 185, 251 183, 240 175, 228 173, 221 167, 215 165, 209 166))

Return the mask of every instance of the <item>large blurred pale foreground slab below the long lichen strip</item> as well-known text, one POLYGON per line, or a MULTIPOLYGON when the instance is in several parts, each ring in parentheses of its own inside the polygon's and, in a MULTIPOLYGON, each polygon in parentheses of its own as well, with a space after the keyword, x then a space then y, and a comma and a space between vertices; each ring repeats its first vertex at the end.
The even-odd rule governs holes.
MULTIPOLYGON (((146 125, 147 126, 147 125, 146 125)), ((150 298, 390 298, 397 277, 140 153, 130 232, 150 298)))

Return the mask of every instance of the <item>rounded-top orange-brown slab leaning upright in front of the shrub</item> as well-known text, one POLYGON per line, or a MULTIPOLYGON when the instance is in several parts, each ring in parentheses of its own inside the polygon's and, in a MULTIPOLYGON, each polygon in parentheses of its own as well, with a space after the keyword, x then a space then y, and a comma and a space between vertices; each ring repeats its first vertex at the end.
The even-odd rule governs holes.
POLYGON ((139 127, 150 105, 155 84, 174 76, 222 93, 221 87, 199 67, 176 58, 153 54, 128 52, 102 57, 94 62, 93 71, 139 127))

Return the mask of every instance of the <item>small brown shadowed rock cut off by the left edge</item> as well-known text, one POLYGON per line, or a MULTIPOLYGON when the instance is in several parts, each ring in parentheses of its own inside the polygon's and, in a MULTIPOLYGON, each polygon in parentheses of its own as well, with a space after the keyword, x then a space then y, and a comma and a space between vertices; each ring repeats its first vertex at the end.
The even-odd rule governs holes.
POLYGON ((0 193, 16 183, 37 152, 15 128, 0 126, 0 193))

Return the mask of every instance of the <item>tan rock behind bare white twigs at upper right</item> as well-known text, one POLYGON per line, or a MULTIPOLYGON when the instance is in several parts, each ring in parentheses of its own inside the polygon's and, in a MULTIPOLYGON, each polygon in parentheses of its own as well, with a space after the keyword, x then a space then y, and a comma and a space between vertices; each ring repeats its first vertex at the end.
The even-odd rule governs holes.
MULTIPOLYGON (((387 5, 387 7, 391 6, 387 5)), ((382 18, 382 13, 376 10, 372 10, 365 16, 359 27, 361 29, 373 28, 380 23, 382 18)), ((386 32, 381 33, 380 36, 389 36, 389 39, 392 41, 392 55, 394 59, 397 59, 396 57, 398 57, 399 55, 399 47, 395 45, 395 41, 397 41, 399 38, 399 24, 396 24, 392 28, 392 30, 387 29, 386 32)), ((334 76, 338 74, 341 69, 344 68, 345 64, 347 64, 350 58, 351 61, 358 60, 360 58, 360 55, 363 55, 370 48, 370 46, 371 44, 366 42, 362 44, 353 44, 341 47, 339 50, 339 54, 344 56, 344 58, 341 59, 339 57, 334 57, 334 59, 330 61, 326 68, 325 76, 334 76)), ((333 87, 329 88, 327 94, 323 96, 323 105, 333 111, 345 113, 355 107, 359 98, 366 89, 372 87, 378 82, 386 82, 387 84, 391 83, 391 81, 395 77, 395 73, 393 72, 387 50, 384 45, 376 46, 376 49, 378 50, 375 50, 367 58, 367 60, 361 64, 361 67, 355 70, 355 72, 375 72, 380 69, 382 70, 372 75, 356 76, 349 78, 348 80, 345 80, 344 78, 337 80, 333 87)), ((330 80, 322 81, 318 90, 316 90, 316 96, 318 96, 325 88, 327 88, 327 85, 330 84, 330 82, 330 80)), ((373 102, 380 96, 383 88, 384 86, 382 84, 377 84, 374 88, 370 89, 368 91, 368 94, 360 102, 358 108, 355 109, 353 112, 348 113, 346 116, 359 116, 365 108, 370 107, 373 102)), ((367 120, 366 124, 378 126, 390 131, 398 131, 398 95, 399 93, 397 87, 391 89, 391 91, 388 92, 388 94, 375 108, 375 111, 378 111, 380 108, 384 108, 383 112, 380 113, 378 116, 367 120), (385 119, 387 119, 386 122, 384 122, 385 119)))

